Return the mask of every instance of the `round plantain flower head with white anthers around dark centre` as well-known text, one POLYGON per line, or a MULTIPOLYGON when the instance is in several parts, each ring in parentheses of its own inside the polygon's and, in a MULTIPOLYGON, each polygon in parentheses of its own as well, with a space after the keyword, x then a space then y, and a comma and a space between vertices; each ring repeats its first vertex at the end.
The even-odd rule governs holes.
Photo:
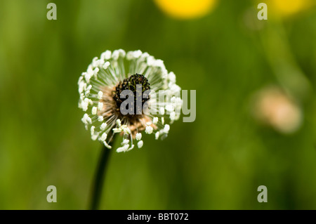
POLYGON ((165 138, 170 124, 180 117, 176 75, 148 53, 105 51, 93 58, 78 85, 81 121, 92 140, 112 148, 112 138, 118 134, 122 141, 117 152, 143 147, 144 134, 165 138))

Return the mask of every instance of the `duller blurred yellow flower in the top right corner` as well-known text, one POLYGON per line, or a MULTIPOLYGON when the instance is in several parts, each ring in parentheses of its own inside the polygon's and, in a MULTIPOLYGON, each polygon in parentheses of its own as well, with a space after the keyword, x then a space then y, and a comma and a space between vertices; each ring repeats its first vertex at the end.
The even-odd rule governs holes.
POLYGON ((315 4, 315 0, 272 0, 268 1, 268 8, 271 6, 272 13, 280 17, 294 15, 315 4))

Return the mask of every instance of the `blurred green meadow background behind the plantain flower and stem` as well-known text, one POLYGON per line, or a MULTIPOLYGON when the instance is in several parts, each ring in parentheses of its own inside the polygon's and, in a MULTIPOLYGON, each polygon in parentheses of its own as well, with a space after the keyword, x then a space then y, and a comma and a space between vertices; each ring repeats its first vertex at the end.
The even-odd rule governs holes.
POLYGON ((88 208, 101 145, 81 123, 77 80, 118 48, 164 60, 197 90, 197 117, 114 152, 101 209, 316 209, 314 1, 262 0, 262 21, 250 0, 52 1, 47 20, 49 2, 0 1, 0 209, 88 208), (258 111, 267 86, 288 110, 258 111))

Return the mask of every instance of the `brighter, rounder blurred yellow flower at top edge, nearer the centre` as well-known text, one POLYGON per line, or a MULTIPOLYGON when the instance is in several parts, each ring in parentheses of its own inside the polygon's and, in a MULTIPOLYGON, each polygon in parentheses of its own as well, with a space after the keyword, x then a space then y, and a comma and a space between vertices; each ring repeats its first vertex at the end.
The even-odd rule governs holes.
POLYGON ((209 13, 217 0, 154 0, 164 13, 173 18, 192 19, 209 13))

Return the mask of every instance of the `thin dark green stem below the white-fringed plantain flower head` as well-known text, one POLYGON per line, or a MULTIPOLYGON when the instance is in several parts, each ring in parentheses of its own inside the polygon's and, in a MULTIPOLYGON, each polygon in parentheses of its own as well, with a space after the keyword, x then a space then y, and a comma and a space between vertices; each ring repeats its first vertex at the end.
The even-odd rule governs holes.
MULTIPOLYGON (((113 140, 110 145, 112 146, 113 140)), ((100 199, 102 197, 103 183, 105 178, 105 169, 107 168, 107 161, 112 150, 103 146, 100 154, 99 163, 96 169, 96 173, 93 180, 93 189, 91 193, 90 209, 97 210, 100 205, 100 199)))

